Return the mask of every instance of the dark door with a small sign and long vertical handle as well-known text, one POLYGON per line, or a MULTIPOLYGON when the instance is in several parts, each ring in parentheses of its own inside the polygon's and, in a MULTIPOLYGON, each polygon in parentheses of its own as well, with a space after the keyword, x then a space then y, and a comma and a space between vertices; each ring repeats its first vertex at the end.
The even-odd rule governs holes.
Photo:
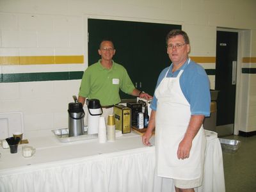
POLYGON ((217 100, 217 127, 223 134, 233 134, 236 106, 237 32, 217 31, 215 89, 217 100))

